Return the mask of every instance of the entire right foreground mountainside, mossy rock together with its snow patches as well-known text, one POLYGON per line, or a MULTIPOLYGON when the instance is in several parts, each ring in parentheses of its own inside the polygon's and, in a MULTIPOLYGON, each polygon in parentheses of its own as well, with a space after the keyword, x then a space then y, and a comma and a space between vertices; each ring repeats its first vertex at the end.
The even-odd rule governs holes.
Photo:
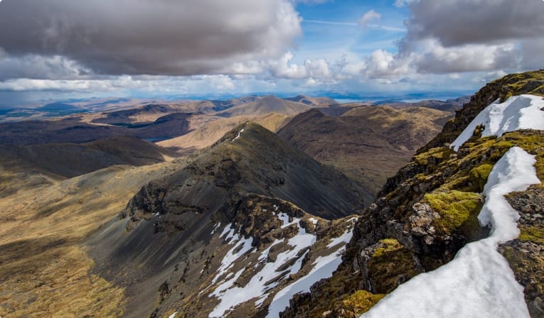
MULTIPOLYGON (((543 97, 543 76, 508 75, 475 94, 363 212, 336 273, 294 299, 282 317, 357 316, 389 293, 364 316, 543 317, 544 114, 516 96, 543 97), (511 96, 517 101, 490 105, 511 96), (506 111, 508 104, 516 111, 506 111), (477 127, 458 151, 449 148, 488 105, 496 107, 481 121, 489 127, 477 127), (538 130, 523 130, 528 122, 538 130), (510 128, 482 137, 497 125, 510 128), (424 272, 430 273, 418 275, 424 272)), ((539 97, 530 100, 544 108, 539 97)))

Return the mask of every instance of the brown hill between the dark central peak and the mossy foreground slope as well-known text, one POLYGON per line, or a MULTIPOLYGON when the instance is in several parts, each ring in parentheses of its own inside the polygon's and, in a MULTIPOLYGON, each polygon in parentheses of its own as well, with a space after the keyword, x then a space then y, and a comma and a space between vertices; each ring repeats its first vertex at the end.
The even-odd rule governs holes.
POLYGON ((422 107, 363 106, 340 117, 312 109, 294 117, 278 136, 377 193, 449 117, 422 107))

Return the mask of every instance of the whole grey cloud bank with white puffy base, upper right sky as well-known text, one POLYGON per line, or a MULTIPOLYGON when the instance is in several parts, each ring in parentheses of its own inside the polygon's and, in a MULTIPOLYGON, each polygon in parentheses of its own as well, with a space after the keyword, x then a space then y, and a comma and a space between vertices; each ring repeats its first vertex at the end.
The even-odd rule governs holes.
POLYGON ((544 1, 398 0, 407 33, 385 75, 544 67, 544 1), (400 65, 400 66, 399 66, 400 65), (404 68, 402 68, 404 67, 404 68))

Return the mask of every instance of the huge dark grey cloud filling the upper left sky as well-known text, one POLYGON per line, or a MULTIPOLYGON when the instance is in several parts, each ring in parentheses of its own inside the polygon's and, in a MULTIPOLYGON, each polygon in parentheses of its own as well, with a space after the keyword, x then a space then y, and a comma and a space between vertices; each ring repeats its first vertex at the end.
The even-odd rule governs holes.
POLYGON ((46 78, 54 78, 48 73, 58 72, 59 62, 60 67, 68 63, 63 71, 67 76, 80 75, 81 70, 108 75, 215 74, 235 62, 278 57, 300 33, 299 16, 288 0, 0 4, 0 49, 4 70, 9 68, 6 59, 14 63, 11 78, 21 76, 16 63, 33 59, 50 61, 45 63, 50 70, 41 73, 46 78))

